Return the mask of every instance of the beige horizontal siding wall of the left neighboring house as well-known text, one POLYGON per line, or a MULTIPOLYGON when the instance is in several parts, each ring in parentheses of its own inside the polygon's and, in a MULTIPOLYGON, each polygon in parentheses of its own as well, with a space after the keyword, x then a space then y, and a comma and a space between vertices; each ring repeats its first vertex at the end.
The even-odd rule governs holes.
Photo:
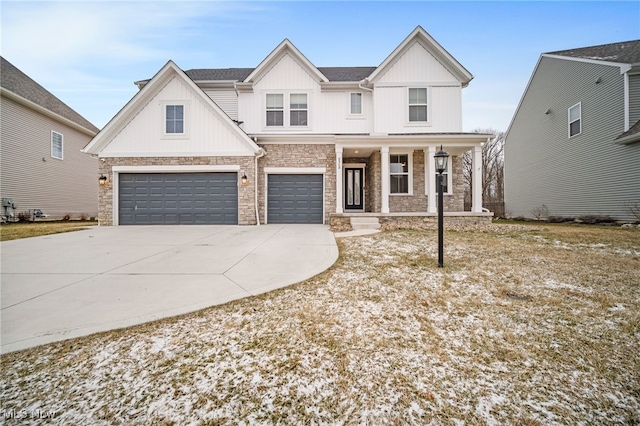
POLYGON ((0 196, 18 204, 16 214, 97 216, 98 161, 80 152, 89 136, 6 97, 0 126, 0 196), (64 137, 62 160, 51 157, 52 130, 64 137))

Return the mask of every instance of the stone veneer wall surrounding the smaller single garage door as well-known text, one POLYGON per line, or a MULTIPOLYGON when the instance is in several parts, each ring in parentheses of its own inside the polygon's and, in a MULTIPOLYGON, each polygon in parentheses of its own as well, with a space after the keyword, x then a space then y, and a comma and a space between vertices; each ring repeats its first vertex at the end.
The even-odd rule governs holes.
MULTIPOLYGON (((332 144, 264 144, 267 155, 258 160, 258 203, 260 223, 265 221, 265 167, 325 167, 324 213, 325 223, 329 214, 336 211, 336 153, 332 144)), ((251 169, 253 170, 253 169, 251 169)), ((253 174, 253 172, 252 172, 253 174)))

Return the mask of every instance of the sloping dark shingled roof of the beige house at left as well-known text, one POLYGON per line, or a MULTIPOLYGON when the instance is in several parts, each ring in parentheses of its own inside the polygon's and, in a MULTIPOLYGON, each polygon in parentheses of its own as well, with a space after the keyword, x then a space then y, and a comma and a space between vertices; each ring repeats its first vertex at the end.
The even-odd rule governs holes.
POLYGON ((1 56, 0 63, 0 85, 2 85, 4 89, 64 117, 87 130, 96 133, 100 130, 1 56))

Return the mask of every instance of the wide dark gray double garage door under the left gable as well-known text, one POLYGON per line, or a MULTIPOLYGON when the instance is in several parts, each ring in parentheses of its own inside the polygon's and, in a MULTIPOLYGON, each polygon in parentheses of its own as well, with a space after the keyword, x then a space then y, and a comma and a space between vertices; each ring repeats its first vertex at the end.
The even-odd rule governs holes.
POLYGON ((121 173, 120 225, 238 224, 237 173, 121 173))

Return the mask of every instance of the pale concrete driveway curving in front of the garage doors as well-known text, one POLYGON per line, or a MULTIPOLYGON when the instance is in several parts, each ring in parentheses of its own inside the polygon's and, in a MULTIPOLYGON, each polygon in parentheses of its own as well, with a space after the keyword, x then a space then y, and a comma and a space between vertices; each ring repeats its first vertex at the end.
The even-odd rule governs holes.
POLYGON ((95 227, 1 249, 2 353, 264 293, 338 258, 323 225, 95 227))

